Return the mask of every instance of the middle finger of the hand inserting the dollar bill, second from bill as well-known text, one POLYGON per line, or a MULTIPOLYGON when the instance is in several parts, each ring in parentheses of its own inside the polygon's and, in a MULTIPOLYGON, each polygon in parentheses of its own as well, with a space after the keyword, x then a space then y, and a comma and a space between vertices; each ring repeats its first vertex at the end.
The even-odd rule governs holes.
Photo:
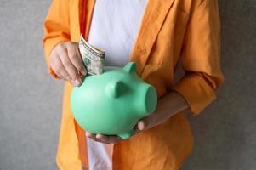
POLYGON ((76 67, 71 63, 71 60, 69 59, 67 55, 67 51, 64 48, 64 50, 60 51, 60 60, 62 64, 65 67, 65 70, 68 72, 68 74, 71 76, 73 80, 75 80, 75 86, 79 86, 82 82, 82 79, 78 76, 78 71, 76 67))

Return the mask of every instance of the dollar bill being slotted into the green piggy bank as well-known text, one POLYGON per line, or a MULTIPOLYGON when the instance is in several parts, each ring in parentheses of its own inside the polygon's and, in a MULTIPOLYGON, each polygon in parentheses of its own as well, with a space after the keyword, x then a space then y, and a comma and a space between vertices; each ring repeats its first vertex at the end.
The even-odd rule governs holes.
POLYGON ((84 40, 82 35, 79 41, 79 51, 89 75, 99 75, 103 72, 105 51, 90 45, 84 40))

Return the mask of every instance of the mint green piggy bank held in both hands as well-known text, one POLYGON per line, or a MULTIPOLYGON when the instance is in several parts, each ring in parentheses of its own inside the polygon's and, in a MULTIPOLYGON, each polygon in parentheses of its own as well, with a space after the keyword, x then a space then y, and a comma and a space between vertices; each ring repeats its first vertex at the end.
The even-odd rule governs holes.
POLYGON ((105 67, 101 75, 83 77, 71 91, 71 111, 90 133, 128 139, 142 117, 156 109, 156 89, 136 75, 136 64, 105 67))

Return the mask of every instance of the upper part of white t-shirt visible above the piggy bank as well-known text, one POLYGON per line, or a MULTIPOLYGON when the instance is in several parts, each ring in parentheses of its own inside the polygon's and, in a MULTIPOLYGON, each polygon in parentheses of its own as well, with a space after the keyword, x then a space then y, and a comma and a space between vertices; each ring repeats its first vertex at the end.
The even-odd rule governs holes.
POLYGON ((105 65, 123 66, 139 30, 146 0, 97 0, 88 42, 106 51, 105 65))

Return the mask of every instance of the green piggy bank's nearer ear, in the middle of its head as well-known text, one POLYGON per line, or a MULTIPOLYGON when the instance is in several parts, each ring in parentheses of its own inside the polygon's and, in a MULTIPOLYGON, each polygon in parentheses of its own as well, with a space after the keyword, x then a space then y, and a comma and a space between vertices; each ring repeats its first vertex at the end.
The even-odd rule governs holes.
POLYGON ((112 98, 118 98, 122 96, 122 94, 126 93, 128 90, 128 86, 122 81, 112 81, 109 82, 106 87, 106 92, 112 98))

